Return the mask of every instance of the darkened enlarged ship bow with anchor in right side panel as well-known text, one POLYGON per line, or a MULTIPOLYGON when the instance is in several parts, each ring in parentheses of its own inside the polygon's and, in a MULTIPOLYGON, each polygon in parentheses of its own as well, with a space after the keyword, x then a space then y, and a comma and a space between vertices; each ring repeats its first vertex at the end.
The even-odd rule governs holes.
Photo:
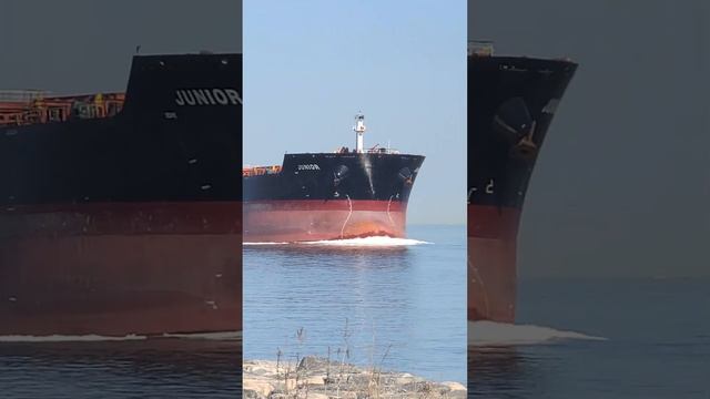
POLYGON ((468 319, 513 323, 520 213, 577 64, 468 45, 468 319))

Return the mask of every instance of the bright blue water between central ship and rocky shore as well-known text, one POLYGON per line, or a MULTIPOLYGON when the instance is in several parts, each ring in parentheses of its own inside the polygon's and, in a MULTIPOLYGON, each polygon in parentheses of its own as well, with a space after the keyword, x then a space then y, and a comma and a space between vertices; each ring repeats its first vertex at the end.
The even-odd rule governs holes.
POLYGON ((465 382, 465 235, 410 226, 408 238, 430 244, 245 246, 244 358, 329 348, 354 364, 465 382))

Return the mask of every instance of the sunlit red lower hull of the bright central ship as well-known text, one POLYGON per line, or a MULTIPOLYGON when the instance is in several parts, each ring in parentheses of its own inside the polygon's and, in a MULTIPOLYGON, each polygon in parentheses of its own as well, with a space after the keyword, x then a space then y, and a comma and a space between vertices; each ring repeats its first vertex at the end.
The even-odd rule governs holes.
POLYGON ((245 243, 292 243, 366 236, 404 237, 406 204, 387 201, 244 203, 245 243))

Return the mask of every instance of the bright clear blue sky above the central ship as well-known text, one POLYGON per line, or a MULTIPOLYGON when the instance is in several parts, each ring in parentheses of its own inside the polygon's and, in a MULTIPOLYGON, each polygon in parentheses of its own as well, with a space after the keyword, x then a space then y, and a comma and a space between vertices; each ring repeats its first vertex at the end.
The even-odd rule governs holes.
POLYGON ((245 0, 244 163, 376 143, 426 155, 410 224, 464 224, 466 2, 245 0))

